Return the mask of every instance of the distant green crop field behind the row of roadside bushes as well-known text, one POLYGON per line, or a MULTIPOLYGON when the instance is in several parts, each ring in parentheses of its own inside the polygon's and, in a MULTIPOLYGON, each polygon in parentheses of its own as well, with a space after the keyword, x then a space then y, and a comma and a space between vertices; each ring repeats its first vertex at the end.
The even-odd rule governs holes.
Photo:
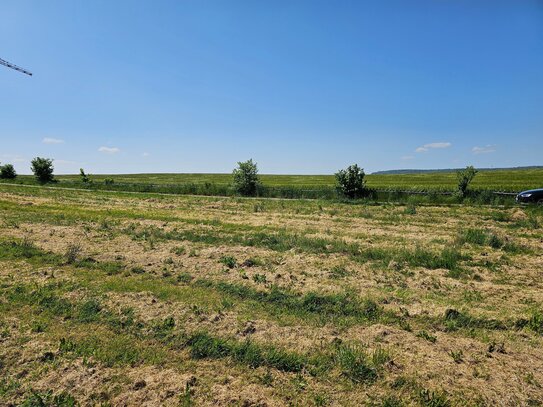
MULTIPOLYGON (((61 175, 57 177, 60 184, 77 183, 79 175, 61 175)), ((93 175, 96 183, 103 183, 111 178, 115 183, 183 185, 214 184, 228 186, 232 181, 231 174, 128 174, 128 175, 93 175)), ((333 190, 333 175, 262 175, 262 183, 270 188, 292 189, 330 189, 333 190)), ((20 176, 20 182, 32 183, 31 176, 20 176)), ((394 190, 440 190, 454 191, 457 186, 454 172, 423 174, 377 174, 367 175, 367 186, 375 189, 394 190)), ((492 190, 504 192, 520 192, 531 188, 543 187, 543 169, 523 169, 504 171, 480 171, 475 177, 474 190, 492 190)))

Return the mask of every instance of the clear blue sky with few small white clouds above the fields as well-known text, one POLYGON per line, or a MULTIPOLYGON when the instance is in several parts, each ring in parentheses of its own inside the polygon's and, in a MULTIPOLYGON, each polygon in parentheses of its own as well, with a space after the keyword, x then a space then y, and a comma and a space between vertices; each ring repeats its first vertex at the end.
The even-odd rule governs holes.
POLYGON ((0 161, 29 172, 543 164, 543 2, 0 2, 0 161))

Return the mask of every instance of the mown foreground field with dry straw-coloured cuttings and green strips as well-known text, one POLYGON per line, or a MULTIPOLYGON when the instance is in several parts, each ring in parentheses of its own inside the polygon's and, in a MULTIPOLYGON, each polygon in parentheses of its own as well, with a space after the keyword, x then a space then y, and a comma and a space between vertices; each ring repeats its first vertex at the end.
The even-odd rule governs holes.
POLYGON ((0 405, 543 403, 542 208, 0 185, 0 215, 0 405))

